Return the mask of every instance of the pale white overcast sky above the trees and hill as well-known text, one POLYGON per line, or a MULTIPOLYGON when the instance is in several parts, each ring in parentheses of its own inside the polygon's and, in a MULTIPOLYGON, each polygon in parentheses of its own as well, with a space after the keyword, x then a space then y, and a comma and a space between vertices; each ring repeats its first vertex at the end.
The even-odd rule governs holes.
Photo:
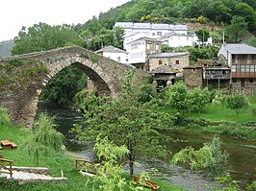
POLYGON ((1 0, 0 41, 13 39, 22 26, 85 23, 129 0, 1 0))

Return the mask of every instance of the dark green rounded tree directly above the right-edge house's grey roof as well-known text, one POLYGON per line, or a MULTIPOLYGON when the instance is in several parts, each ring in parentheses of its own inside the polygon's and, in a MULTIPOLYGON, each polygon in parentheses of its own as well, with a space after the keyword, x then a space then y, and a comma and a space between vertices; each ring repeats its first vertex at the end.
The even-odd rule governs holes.
POLYGON ((226 35, 229 42, 238 43, 248 34, 247 23, 242 16, 233 16, 231 24, 226 26, 226 35))

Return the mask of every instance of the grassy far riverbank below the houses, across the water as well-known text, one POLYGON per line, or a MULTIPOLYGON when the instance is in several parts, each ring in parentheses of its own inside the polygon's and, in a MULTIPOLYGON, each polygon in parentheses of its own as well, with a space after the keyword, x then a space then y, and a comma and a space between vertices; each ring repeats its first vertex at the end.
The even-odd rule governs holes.
MULTIPOLYGON (((188 111, 184 114, 182 126, 191 131, 203 131, 233 137, 256 140, 256 96, 247 97, 248 107, 240 113, 237 119, 234 110, 224 107, 221 103, 208 104, 201 113, 188 111), (184 123, 185 121, 185 123, 184 123)), ((161 111, 176 114, 173 108, 162 107, 161 111)))

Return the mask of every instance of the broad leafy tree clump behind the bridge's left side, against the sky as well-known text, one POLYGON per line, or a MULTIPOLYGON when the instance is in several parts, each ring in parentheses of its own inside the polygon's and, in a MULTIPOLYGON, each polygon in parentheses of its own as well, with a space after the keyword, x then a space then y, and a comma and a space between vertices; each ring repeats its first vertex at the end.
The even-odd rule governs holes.
POLYGON ((50 26, 38 23, 14 37, 13 55, 40 52, 59 47, 81 45, 81 38, 69 25, 50 26))

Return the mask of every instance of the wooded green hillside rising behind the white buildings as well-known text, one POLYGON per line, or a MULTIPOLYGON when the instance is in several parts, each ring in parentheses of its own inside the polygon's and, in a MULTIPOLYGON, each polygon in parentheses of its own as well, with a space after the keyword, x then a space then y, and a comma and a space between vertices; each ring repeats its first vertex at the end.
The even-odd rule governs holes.
MULTIPOLYGON (((102 44, 121 48, 122 42, 115 42, 118 37, 111 39, 111 36, 118 35, 118 32, 111 34, 116 21, 186 23, 189 31, 206 29, 219 41, 223 29, 230 26, 236 16, 242 17, 244 23, 237 30, 245 30, 237 41, 247 42, 247 36, 256 35, 255 0, 131 0, 108 12, 101 12, 98 17, 94 16, 74 29, 85 39, 84 47, 90 50, 98 50, 102 44)), ((234 43, 231 34, 234 30, 230 31, 225 33, 226 41, 234 43)))

